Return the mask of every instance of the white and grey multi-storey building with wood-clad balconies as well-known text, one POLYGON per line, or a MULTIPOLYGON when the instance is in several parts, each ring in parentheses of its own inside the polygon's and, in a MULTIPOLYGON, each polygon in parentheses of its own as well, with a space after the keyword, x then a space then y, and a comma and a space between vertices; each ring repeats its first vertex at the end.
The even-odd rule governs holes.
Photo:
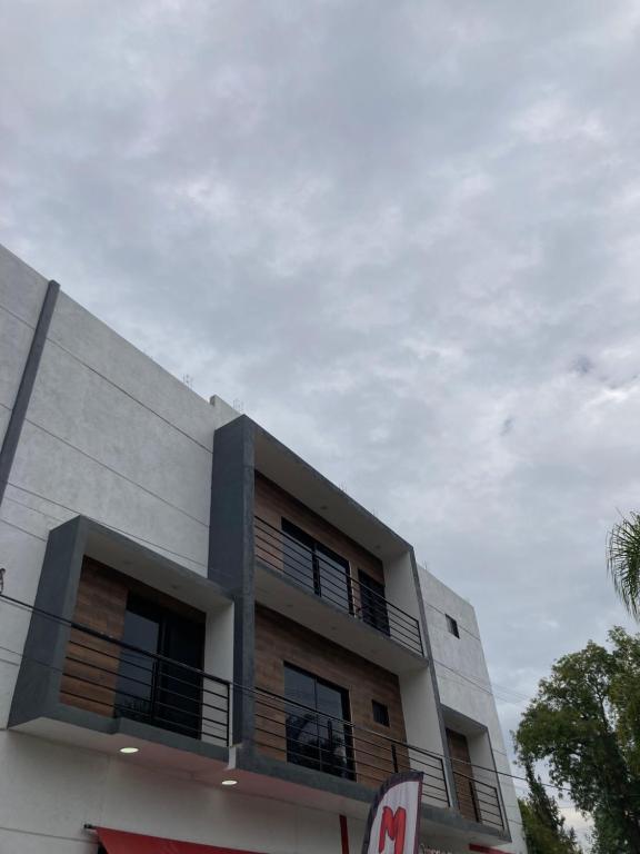
POLYGON ((2 854, 359 852, 408 767, 426 850, 524 853, 472 609, 408 543, 7 250, 0 359, 2 854))

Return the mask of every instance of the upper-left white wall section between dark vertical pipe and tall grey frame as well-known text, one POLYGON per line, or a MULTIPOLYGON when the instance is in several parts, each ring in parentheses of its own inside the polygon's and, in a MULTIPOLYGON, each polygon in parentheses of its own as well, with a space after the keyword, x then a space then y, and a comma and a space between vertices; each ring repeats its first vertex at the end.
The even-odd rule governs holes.
POLYGON ((47 515, 83 513, 204 574, 214 416, 61 294, 3 512, 39 536, 47 515), (44 510, 40 524, 17 502, 44 510))

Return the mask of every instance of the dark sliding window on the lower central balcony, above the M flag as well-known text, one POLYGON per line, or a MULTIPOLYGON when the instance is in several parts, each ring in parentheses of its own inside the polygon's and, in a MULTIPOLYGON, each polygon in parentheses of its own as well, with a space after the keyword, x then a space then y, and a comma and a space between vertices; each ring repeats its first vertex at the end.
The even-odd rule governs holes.
POLYGON ((284 695, 287 761, 353 779, 348 692, 286 664, 284 695))

